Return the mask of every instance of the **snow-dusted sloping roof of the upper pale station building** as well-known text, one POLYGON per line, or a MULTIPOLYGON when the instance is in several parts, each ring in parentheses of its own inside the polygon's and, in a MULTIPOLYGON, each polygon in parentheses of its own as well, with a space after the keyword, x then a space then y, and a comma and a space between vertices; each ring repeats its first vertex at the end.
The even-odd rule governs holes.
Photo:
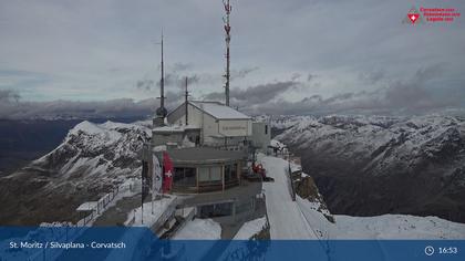
POLYGON ((216 119, 250 119, 249 116, 218 102, 192 102, 189 104, 216 119))

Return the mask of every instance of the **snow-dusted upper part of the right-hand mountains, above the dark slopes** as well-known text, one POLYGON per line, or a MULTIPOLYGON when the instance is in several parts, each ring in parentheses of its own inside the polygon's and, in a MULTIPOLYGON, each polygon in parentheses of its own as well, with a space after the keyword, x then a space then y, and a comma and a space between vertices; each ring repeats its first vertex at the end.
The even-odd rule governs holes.
POLYGON ((369 161, 374 174, 391 164, 416 165, 443 154, 461 150, 465 123, 455 117, 417 116, 312 116, 277 119, 277 128, 287 128, 276 139, 298 149, 337 155, 342 159, 369 161), (374 169, 373 169, 374 168, 374 169))

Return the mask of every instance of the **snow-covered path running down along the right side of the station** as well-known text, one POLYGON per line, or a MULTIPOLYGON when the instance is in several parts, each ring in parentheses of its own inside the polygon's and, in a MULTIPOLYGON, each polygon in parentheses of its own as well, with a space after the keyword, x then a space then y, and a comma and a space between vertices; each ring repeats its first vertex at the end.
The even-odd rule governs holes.
POLYGON ((275 182, 264 182, 271 239, 317 239, 299 205, 292 201, 287 180, 288 161, 264 157, 261 164, 275 182))

